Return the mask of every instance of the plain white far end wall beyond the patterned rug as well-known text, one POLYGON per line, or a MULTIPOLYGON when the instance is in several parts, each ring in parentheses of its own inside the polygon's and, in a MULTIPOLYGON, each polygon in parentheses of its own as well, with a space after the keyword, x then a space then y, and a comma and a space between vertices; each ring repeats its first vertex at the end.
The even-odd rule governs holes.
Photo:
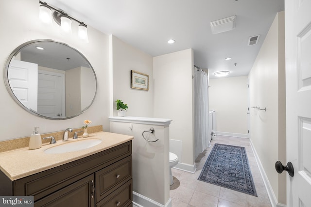
POLYGON ((209 80, 208 108, 216 111, 217 133, 247 136, 246 84, 247 76, 209 80))

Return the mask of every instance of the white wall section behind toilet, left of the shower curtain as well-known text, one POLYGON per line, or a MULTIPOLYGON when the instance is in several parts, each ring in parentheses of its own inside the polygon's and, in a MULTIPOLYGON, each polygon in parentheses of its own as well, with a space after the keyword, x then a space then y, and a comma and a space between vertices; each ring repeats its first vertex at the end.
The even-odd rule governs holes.
POLYGON ((170 139, 182 141, 182 162, 193 165, 193 51, 186 49, 154 57, 154 116, 170 118, 170 139))

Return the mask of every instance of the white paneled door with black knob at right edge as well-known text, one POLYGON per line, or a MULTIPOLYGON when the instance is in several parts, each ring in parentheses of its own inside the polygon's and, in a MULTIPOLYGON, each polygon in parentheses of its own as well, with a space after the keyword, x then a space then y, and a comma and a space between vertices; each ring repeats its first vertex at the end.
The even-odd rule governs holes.
POLYGON ((285 0, 285 54, 287 206, 311 207, 311 0, 285 0))

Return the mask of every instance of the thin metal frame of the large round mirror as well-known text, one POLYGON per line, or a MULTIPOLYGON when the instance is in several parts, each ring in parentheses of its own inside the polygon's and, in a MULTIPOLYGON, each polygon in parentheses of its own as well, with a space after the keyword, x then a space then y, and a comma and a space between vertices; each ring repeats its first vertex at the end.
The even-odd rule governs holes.
POLYGON ((79 116, 80 114, 82 114, 83 112, 85 112, 94 102, 95 100, 95 97, 96 97, 96 94, 97 94, 97 77, 96 77, 96 74, 95 74, 95 71, 94 71, 94 68, 93 66, 89 63, 89 61, 86 59, 86 57, 80 52, 78 51, 77 49, 75 48, 72 48, 70 47, 69 45, 65 44, 65 43, 62 43, 62 42, 58 42, 58 41, 55 41, 55 40, 51 40, 51 39, 37 39, 37 40, 31 40, 31 41, 28 41, 28 42, 25 42, 23 44, 21 44, 20 46, 18 46, 17 48, 15 48, 11 54, 9 55, 6 63, 5 63, 5 66, 4 66, 4 83, 5 83, 5 87, 7 89, 7 91, 9 92, 10 96, 13 98, 13 100, 20 106, 22 107, 24 110, 28 111, 29 113, 33 114, 33 115, 36 115, 36 116, 39 116, 41 118, 45 118, 45 119, 52 119, 52 120, 65 120, 65 119, 71 119, 71 118, 74 118, 76 116, 79 116), (31 44, 34 44, 36 42, 54 42, 54 43, 57 43, 57 44, 61 44, 63 46, 66 46, 66 47, 69 47, 71 49, 73 49, 74 51, 76 51, 78 54, 80 54, 87 62, 87 64, 89 64, 90 68, 92 69, 93 71, 93 74, 94 74, 94 77, 95 77, 95 94, 94 94, 94 97, 91 101, 91 103, 82 111, 80 111, 79 113, 73 115, 73 116, 69 116, 69 117, 63 117, 63 118, 52 118, 52 117, 48 117, 48 116, 43 116, 39 113, 37 113, 36 111, 33 111, 31 109, 28 109, 27 107, 25 107, 19 100, 18 98, 14 95, 12 89, 11 89, 11 86, 10 86, 10 83, 9 83, 9 79, 8 79, 8 70, 9 70, 9 64, 12 60, 12 58, 17 55, 17 53, 24 47, 28 46, 28 45, 31 45, 31 44))

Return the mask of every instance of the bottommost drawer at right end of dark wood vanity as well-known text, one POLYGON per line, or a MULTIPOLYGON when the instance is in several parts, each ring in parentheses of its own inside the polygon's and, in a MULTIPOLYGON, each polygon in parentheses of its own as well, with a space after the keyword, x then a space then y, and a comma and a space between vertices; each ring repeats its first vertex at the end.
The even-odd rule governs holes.
POLYGON ((106 196, 96 207, 128 207, 133 201, 132 179, 106 196))

